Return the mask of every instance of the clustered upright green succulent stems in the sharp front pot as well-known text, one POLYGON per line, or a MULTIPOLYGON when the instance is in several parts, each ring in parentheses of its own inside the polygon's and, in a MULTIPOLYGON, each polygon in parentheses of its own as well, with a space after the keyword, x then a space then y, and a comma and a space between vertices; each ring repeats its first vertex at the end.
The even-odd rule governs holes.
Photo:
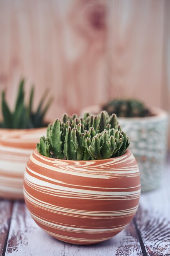
POLYGON ((40 138, 38 152, 46 157, 67 160, 108 159, 123 155, 129 146, 115 114, 86 113, 83 118, 64 114, 62 121, 49 124, 46 137, 40 138))

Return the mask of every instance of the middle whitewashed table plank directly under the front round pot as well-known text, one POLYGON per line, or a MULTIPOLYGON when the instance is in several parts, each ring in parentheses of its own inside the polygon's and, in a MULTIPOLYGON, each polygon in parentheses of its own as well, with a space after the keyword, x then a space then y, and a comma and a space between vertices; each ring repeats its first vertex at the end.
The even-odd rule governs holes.
POLYGON ((91 246, 69 245, 42 231, 32 220, 23 202, 15 202, 5 255, 15 256, 142 256, 132 224, 104 243, 91 246), (43 248, 43 249, 42 249, 43 248))

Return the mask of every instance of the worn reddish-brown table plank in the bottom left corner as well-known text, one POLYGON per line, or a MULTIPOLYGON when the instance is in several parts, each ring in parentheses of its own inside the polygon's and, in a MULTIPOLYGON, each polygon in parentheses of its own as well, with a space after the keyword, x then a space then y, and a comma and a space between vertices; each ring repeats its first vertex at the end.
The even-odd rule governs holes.
POLYGON ((0 200, 0 256, 6 245, 9 232, 13 203, 7 200, 0 200))

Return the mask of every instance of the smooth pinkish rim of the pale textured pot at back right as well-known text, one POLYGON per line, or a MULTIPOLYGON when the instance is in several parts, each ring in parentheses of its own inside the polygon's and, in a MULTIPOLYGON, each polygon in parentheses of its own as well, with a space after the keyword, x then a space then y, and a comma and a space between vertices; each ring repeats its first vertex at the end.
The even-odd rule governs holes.
MULTIPOLYGON (((91 112, 93 112, 93 109, 95 110, 94 112, 100 112, 102 111, 102 105, 92 105, 88 106, 86 108, 82 109, 82 113, 89 112, 90 108, 92 109, 91 112)), ((163 110, 158 107, 149 107, 148 108, 150 112, 153 114, 152 116, 148 117, 117 117, 118 121, 157 121, 160 119, 168 119, 168 112, 166 110, 163 110)))

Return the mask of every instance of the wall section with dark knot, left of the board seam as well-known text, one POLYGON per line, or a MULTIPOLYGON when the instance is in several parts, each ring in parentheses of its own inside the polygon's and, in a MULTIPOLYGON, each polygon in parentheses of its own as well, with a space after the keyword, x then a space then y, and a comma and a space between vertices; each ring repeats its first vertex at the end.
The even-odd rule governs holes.
POLYGON ((37 89, 51 88, 53 119, 90 102, 86 89, 94 95, 104 85, 104 9, 103 0, 1 0, 0 84, 9 99, 24 75, 37 89))

